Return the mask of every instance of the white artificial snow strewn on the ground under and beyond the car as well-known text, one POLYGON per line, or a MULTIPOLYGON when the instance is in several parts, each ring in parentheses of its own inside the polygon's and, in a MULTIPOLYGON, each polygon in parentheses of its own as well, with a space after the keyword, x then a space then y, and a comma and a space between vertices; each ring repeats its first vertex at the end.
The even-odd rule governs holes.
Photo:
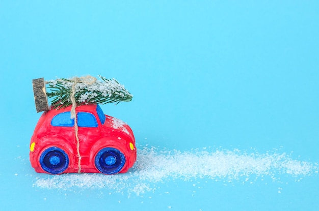
POLYGON ((263 180, 268 176, 276 180, 280 175, 302 177, 318 172, 317 164, 294 160, 284 153, 247 154, 238 149, 180 152, 155 147, 138 148, 137 152, 137 161, 127 173, 48 175, 47 178, 38 178, 34 187, 62 190, 108 189, 117 193, 125 191, 140 195, 155 191, 159 188, 158 184, 176 179, 206 179, 224 183, 239 181, 245 184, 251 177, 261 177, 263 180))

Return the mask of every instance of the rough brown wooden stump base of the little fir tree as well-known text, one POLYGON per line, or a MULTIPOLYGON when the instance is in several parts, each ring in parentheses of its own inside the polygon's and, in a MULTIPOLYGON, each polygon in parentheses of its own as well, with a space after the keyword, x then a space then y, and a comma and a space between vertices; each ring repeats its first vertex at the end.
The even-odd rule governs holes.
POLYGON ((33 79, 32 86, 37 112, 49 110, 44 78, 33 79))

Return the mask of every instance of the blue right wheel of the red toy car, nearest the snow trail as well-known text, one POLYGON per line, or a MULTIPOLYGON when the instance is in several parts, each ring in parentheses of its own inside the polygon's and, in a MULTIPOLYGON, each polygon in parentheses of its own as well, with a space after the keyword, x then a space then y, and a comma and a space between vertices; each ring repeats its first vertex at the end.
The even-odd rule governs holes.
POLYGON ((95 156, 94 163, 100 172, 104 174, 115 174, 123 168, 125 156, 116 148, 106 147, 99 150, 95 156))

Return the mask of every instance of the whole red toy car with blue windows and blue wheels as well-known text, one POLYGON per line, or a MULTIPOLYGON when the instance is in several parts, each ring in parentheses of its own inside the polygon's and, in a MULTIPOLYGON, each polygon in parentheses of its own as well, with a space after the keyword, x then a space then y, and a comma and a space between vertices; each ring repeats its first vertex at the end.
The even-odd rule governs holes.
MULTIPOLYGON (((71 106, 45 111, 30 143, 30 161, 38 173, 78 172, 77 140, 71 106)), ((83 173, 124 173, 136 161, 135 138, 122 120, 105 115, 97 104, 76 107, 83 173)))

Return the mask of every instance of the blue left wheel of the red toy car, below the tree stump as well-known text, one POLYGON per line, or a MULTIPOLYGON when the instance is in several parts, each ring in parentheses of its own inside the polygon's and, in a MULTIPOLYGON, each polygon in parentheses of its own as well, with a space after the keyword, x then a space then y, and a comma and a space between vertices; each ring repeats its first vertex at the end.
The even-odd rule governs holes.
POLYGON ((51 174, 59 174, 69 166, 69 157, 63 149, 59 147, 49 147, 40 156, 42 169, 51 174))

